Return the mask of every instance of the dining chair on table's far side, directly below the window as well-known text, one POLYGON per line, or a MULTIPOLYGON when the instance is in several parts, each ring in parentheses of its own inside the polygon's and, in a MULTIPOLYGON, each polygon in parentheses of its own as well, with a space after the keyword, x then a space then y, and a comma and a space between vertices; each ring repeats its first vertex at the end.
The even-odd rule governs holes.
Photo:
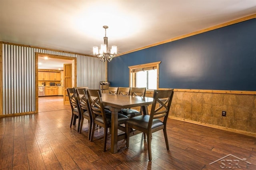
MULTIPOLYGON (((131 96, 140 96, 145 97, 146 95, 146 87, 132 87, 130 90, 131 96)), ((140 111, 137 111, 135 109, 121 109, 119 113, 122 113, 123 115, 126 115, 129 119, 138 115, 142 114, 142 109, 140 108, 140 111)))

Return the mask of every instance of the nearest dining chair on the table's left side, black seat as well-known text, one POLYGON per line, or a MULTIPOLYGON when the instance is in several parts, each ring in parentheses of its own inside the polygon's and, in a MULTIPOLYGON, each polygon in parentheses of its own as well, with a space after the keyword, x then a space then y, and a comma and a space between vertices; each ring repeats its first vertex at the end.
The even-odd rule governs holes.
MULTIPOLYGON (((106 151, 108 128, 111 127, 111 112, 105 113, 104 105, 102 103, 102 94, 99 89, 87 89, 84 95, 88 96, 89 106, 92 113, 92 134, 90 141, 93 141, 94 130, 96 124, 104 128, 104 149, 106 151)), ((118 113, 118 125, 124 124, 128 117, 118 113)))

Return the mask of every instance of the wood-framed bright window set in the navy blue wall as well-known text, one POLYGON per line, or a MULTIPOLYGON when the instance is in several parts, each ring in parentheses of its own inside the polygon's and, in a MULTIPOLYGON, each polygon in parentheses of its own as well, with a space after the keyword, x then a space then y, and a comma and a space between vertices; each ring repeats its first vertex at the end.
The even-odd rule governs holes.
POLYGON ((158 89, 158 72, 161 61, 130 66, 130 87, 158 89))

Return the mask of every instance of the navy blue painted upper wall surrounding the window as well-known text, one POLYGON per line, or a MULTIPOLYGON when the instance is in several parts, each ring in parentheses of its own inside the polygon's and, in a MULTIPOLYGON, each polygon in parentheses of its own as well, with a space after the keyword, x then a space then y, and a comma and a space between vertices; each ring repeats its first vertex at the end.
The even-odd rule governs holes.
POLYGON ((129 87, 128 66, 156 61, 159 88, 256 91, 256 19, 116 57, 108 81, 129 87))

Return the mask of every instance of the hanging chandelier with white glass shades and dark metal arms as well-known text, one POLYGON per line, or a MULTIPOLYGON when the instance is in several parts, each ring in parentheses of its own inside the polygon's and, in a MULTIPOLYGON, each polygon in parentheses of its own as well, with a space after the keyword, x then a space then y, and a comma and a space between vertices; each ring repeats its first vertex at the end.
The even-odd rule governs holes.
POLYGON ((112 45, 110 51, 108 50, 108 37, 106 36, 106 29, 108 29, 108 26, 103 26, 103 28, 105 29, 104 44, 100 45, 100 50, 97 46, 94 46, 93 55, 97 56, 100 61, 110 62, 117 53, 117 47, 116 45, 112 45))

